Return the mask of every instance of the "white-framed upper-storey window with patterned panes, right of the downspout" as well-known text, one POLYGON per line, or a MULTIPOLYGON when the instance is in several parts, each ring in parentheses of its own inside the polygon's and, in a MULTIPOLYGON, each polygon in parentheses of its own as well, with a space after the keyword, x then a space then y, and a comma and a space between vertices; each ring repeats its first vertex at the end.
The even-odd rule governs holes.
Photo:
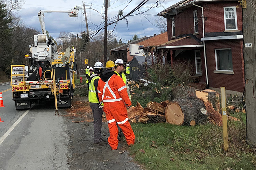
POLYGON ((236 7, 224 7, 225 30, 237 30, 236 7))

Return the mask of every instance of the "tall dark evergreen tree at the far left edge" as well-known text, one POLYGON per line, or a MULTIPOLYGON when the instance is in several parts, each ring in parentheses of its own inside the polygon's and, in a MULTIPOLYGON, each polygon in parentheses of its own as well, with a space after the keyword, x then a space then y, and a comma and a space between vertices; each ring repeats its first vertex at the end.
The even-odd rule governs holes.
POLYGON ((7 17, 8 11, 6 10, 6 4, 0 1, 0 56, 1 64, 0 71, 10 75, 11 64, 13 63, 13 48, 11 38, 10 24, 12 17, 7 17))

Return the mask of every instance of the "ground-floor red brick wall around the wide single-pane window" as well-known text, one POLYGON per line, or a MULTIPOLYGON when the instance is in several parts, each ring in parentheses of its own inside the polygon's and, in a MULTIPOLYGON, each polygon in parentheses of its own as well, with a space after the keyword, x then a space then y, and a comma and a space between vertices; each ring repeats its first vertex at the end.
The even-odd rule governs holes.
POLYGON ((205 41, 208 67, 209 86, 227 90, 243 92, 244 89, 244 61, 243 40, 205 41), (214 73, 216 70, 215 49, 231 48, 234 74, 214 73))

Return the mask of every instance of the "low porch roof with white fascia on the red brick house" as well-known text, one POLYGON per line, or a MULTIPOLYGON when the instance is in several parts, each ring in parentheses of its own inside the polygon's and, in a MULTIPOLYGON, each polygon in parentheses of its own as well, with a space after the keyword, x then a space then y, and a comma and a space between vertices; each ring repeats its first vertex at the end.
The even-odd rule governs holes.
POLYGON ((157 48, 186 48, 186 47, 201 47, 203 42, 192 34, 178 36, 175 39, 163 43, 157 48))

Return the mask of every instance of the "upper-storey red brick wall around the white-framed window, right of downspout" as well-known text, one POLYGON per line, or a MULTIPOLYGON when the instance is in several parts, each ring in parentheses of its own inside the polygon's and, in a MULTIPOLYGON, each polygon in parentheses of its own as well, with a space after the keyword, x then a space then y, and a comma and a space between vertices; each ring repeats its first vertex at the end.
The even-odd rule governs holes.
MULTIPOLYGON (((237 6, 239 3, 208 3, 204 5, 204 29, 205 32, 223 32, 225 31, 224 7, 237 6), (207 18, 206 18, 207 17, 207 18)), ((242 7, 237 10, 237 27, 242 31, 242 7)))

